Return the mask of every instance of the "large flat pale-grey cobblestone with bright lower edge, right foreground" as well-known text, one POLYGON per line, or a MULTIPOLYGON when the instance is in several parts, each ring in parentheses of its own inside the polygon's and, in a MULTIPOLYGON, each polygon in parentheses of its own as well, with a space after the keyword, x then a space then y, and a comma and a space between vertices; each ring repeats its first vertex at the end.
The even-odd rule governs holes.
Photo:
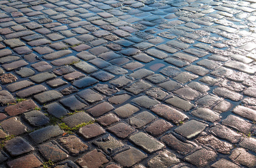
POLYGON ((176 128, 175 132, 190 139, 200 134, 207 126, 208 125, 205 123, 198 122, 196 120, 190 120, 189 122, 186 122, 185 124, 176 128))

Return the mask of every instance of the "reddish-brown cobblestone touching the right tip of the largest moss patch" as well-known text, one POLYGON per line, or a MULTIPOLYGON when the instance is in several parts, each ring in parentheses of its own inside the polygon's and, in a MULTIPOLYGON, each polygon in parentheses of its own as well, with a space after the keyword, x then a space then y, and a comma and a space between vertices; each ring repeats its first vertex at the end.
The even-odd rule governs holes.
POLYGON ((79 133, 85 138, 90 139, 93 137, 97 137, 103 133, 105 130, 100 127, 98 124, 89 124, 79 129, 79 133))

